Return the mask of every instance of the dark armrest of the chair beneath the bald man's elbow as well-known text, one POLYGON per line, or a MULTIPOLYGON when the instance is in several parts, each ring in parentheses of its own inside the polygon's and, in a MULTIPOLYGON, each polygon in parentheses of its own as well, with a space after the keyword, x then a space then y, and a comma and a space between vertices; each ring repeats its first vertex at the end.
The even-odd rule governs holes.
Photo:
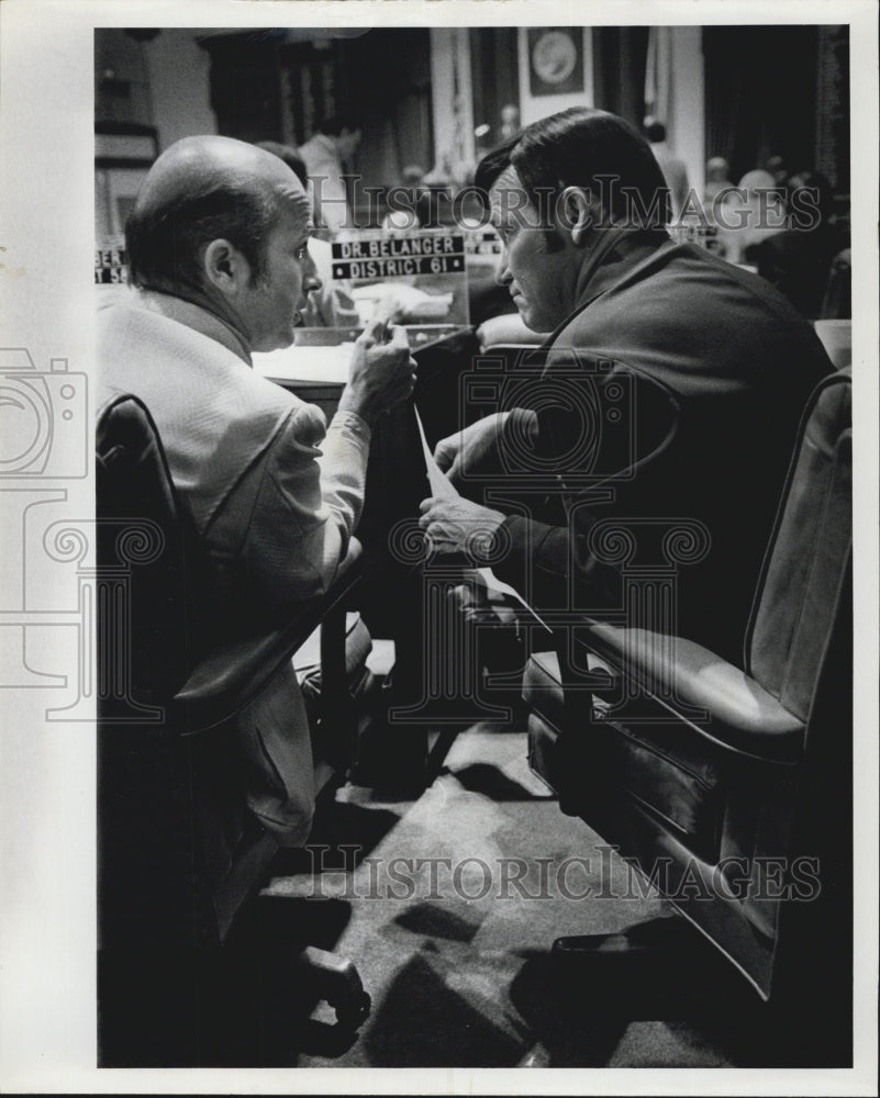
MULTIPOLYGON (((193 670, 174 699, 190 731, 212 728, 241 712, 334 610, 343 615, 364 568, 360 542, 352 539, 328 590, 302 606, 288 624, 254 634, 211 652, 193 670)), ((342 635, 345 660, 345 631, 342 635)))

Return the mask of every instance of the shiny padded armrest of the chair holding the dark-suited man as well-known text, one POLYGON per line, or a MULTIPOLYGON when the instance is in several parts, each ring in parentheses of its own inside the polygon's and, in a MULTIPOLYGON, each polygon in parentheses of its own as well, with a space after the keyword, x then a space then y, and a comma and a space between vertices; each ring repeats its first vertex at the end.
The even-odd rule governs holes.
POLYGON ((708 648, 646 629, 593 623, 581 643, 702 736, 773 762, 795 762, 805 725, 759 683, 708 648), (705 719, 688 715, 703 710, 705 719))

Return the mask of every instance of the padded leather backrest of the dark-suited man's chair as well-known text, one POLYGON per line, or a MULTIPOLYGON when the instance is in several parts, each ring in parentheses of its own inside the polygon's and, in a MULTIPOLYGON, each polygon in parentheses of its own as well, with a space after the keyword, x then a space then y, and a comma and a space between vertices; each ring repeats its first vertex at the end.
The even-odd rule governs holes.
POLYGON ((807 720, 853 546, 851 380, 814 391, 801 424, 746 638, 751 676, 807 720))

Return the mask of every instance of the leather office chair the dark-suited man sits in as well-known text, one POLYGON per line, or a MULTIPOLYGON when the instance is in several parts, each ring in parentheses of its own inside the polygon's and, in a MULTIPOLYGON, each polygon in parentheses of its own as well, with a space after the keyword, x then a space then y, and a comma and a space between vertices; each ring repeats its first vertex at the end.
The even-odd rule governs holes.
POLYGON ((592 620, 580 660, 592 704, 564 693, 556 653, 535 654, 524 677, 531 762, 562 810, 651 877, 762 999, 814 1001, 824 968, 843 1012, 850 424, 850 379, 838 372, 801 423, 742 668, 684 638, 592 620))

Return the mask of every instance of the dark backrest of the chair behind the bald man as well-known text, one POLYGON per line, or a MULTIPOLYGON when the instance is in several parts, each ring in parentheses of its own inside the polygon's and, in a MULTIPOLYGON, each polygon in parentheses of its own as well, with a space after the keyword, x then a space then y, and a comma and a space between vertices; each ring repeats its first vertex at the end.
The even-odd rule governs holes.
MULTIPOLYGON (((96 514, 99 591, 110 610, 98 626, 100 941, 212 942, 216 916, 193 827, 196 776, 205 768, 193 766, 171 707, 197 660, 189 539, 156 426, 131 395, 99 411, 96 514)), ((208 747, 230 754, 224 742, 208 747)), ((230 758, 227 769, 235 765, 230 758)))

